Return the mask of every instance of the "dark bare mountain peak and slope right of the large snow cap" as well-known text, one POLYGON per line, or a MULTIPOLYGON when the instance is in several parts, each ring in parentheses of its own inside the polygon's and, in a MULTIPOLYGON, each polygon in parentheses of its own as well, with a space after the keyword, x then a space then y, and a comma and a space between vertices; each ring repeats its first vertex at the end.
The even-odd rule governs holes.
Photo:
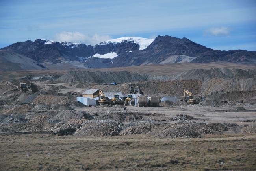
POLYGON ((187 38, 179 39, 170 36, 158 36, 145 50, 129 53, 124 60, 120 59, 117 63, 119 66, 132 66, 180 62, 207 63, 215 61, 256 62, 256 51, 213 50, 192 42, 187 38))

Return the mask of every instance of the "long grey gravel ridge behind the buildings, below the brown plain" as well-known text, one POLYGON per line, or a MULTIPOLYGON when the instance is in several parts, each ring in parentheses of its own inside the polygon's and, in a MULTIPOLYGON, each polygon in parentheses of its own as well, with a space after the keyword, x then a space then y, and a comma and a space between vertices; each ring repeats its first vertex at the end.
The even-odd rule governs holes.
POLYGON ((94 83, 121 83, 131 81, 147 81, 146 74, 139 74, 136 72, 100 72, 100 71, 70 71, 57 79, 61 82, 78 81, 80 83, 94 82, 94 83))

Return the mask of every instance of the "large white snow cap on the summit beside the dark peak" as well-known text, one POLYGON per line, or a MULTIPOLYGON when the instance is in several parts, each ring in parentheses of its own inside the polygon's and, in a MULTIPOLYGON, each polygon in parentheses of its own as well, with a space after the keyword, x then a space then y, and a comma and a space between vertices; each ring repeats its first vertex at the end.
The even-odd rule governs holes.
POLYGON ((104 45, 104 44, 117 44, 117 43, 122 43, 122 42, 134 42, 136 44, 139 44, 139 50, 146 49, 148 45, 150 45, 154 39, 147 39, 143 37, 120 37, 117 39, 111 39, 105 42, 101 42, 99 45, 104 45))

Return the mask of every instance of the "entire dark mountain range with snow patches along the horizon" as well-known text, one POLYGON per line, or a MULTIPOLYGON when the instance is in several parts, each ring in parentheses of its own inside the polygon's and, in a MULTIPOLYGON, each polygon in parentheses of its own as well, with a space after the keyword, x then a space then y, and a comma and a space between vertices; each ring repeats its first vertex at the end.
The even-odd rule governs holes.
POLYGON ((37 39, 34 42, 18 42, 2 50, 29 57, 50 69, 109 68, 184 62, 256 62, 256 51, 213 50, 187 38, 171 36, 158 36, 154 40, 121 37, 95 46, 37 39))

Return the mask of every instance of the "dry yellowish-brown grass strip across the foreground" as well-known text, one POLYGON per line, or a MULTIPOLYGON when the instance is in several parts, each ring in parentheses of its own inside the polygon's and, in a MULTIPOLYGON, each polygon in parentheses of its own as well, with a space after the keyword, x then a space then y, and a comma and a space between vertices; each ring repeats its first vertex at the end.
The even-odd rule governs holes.
POLYGON ((255 170, 255 156, 255 134, 202 139, 0 134, 1 170, 255 170))

